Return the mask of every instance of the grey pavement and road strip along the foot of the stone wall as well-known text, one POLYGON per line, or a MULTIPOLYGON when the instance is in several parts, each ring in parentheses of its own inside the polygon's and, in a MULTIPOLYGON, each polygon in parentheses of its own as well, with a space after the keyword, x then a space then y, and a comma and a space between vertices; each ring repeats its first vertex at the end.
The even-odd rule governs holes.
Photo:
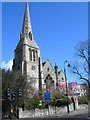
MULTIPOLYGON (((3 119, 5 120, 5 119, 3 119)), ((10 120, 10 119, 8 119, 10 120)), ((12 120, 18 120, 16 118, 13 118, 12 120)), ((50 116, 41 116, 37 118, 24 118, 20 120, 90 120, 88 119, 88 110, 76 110, 73 112, 70 112, 69 114, 54 114, 50 116)))

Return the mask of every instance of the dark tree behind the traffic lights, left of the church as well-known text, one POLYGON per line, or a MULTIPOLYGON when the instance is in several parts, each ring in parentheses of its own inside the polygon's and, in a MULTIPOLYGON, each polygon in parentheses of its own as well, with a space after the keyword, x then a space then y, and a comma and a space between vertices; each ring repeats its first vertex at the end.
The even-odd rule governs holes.
POLYGON ((12 102, 13 109, 16 106, 22 106, 25 101, 26 94, 26 80, 25 77, 21 75, 20 71, 5 71, 2 69, 2 111, 4 113, 9 113, 10 111, 10 102, 6 99, 6 88, 8 85, 11 87, 13 92, 16 92, 16 100, 12 102), (22 97, 18 100, 18 88, 22 90, 22 97))

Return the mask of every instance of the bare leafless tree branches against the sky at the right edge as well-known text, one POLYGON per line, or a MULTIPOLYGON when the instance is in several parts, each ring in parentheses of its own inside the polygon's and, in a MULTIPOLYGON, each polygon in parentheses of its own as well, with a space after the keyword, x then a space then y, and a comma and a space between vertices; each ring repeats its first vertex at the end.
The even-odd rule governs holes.
POLYGON ((87 81, 88 86, 90 86, 88 80, 88 41, 80 42, 75 49, 75 56, 78 59, 72 63, 71 71, 77 75, 79 79, 87 81))

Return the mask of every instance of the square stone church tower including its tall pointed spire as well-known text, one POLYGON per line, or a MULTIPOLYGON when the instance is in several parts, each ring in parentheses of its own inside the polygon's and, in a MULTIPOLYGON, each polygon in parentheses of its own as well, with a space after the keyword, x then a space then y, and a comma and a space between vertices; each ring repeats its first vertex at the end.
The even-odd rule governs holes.
POLYGON ((14 52, 12 69, 20 70, 22 75, 27 76, 29 82, 34 82, 35 89, 39 90, 40 49, 33 38, 28 2, 26 3, 20 41, 14 52))

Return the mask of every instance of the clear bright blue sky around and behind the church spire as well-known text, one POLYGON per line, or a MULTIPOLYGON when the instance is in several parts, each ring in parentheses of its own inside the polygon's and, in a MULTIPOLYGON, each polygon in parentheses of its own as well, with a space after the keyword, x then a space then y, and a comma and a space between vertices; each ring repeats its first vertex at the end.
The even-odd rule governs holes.
MULTIPOLYGON (((2 61, 14 58, 20 39, 25 2, 2 4, 2 61)), ((64 61, 74 59, 74 47, 88 38, 88 3, 30 3, 33 36, 40 48, 42 62, 48 58, 52 66, 63 69, 64 61)), ((76 80, 68 73, 68 78, 76 80)))

